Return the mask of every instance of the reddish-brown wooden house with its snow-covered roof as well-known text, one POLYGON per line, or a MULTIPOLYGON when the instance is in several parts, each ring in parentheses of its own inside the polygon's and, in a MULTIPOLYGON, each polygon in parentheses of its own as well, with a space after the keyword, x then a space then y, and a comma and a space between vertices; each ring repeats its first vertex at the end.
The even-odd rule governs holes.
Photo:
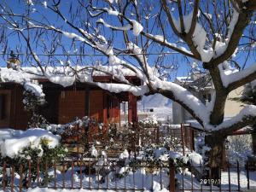
MULTIPOLYGON (((40 109, 40 113, 51 124, 66 124, 76 117, 89 116, 105 125, 109 123, 119 125, 121 102, 129 103, 128 121, 137 121, 138 96, 130 92, 113 93, 96 84, 83 81, 70 82, 70 78, 73 77, 67 75, 65 77, 52 75, 45 78, 49 74, 40 76, 35 70, 38 69, 23 68, 22 71, 17 71, 6 67, 1 68, 0 128, 24 130, 27 127, 29 115, 22 103, 24 79, 35 79, 43 85, 46 104, 40 109)), ((125 74, 124 77, 133 84, 141 84, 141 81, 131 73, 125 74)), ((106 73, 95 73, 91 78, 93 82, 114 82, 113 77, 106 73)))

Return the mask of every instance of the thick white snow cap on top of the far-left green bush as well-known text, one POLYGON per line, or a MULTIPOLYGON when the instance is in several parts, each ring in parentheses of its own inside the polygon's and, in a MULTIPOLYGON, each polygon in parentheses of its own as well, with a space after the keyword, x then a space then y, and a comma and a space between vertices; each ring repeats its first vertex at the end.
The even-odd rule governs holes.
POLYGON ((4 136, 0 143, 1 155, 10 158, 14 158, 26 147, 42 148, 42 141, 47 143, 49 148, 55 148, 59 145, 61 139, 61 137, 55 136, 51 132, 40 128, 29 129, 27 131, 0 130, 0 135, 4 136))

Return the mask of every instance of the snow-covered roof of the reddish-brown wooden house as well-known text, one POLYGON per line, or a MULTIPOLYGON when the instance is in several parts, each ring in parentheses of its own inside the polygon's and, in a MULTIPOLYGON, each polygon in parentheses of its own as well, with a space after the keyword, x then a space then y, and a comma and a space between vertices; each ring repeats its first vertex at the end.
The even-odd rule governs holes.
POLYGON ((76 67, 46 67, 44 74, 39 67, 21 67, 19 70, 1 67, 0 77, 2 82, 20 83, 24 79, 48 79, 64 87, 72 85, 75 81, 81 83, 92 81, 92 77, 111 76, 117 79, 136 77, 136 73, 125 67, 119 66, 76 66, 76 67))

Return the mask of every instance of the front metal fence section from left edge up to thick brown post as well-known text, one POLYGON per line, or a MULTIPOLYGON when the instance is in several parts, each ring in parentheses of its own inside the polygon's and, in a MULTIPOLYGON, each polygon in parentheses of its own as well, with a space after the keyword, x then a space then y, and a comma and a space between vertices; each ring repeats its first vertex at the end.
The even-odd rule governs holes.
POLYGON ((148 166, 146 162, 142 161, 132 166, 125 164, 120 166, 113 164, 112 160, 107 160, 101 165, 98 164, 99 160, 101 159, 88 158, 86 160, 65 160, 61 163, 27 160, 26 163, 15 166, 4 161, 3 174, 0 175, 2 189, 20 192, 23 189, 36 187, 142 191, 144 189, 153 190, 157 177, 160 189, 175 190, 175 167, 172 166, 172 163, 148 166), (120 170, 124 174, 120 174, 120 170), (158 172, 157 176, 155 175, 156 171, 158 172), (167 182, 168 185, 164 184, 166 178, 170 179, 167 182), (171 184, 169 185, 169 183, 171 184))

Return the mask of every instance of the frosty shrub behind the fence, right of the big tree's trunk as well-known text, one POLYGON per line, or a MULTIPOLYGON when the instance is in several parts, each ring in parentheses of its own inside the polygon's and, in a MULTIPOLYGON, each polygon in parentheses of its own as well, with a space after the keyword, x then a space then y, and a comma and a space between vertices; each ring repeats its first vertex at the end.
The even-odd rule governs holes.
POLYGON ((240 166, 244 166, 249 155, 252 155, 251 135, 228 137, 227 156, 231 164, 236 165, 238 161, 240 166))

